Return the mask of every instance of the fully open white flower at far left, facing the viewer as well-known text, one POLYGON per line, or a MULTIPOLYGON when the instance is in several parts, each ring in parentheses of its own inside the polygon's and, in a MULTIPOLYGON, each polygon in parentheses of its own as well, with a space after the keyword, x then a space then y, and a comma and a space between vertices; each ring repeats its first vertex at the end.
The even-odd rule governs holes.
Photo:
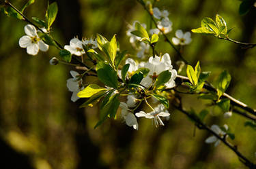
POLYGON ((27 24, 24 27, 24 31, 27 35, 20 37, 18 43, 21 48, 27 48, 27 54, 35 56, 38 54, 39 50, 43 52, 48 50, 49 46, 40 39, 35 26, 27 24))

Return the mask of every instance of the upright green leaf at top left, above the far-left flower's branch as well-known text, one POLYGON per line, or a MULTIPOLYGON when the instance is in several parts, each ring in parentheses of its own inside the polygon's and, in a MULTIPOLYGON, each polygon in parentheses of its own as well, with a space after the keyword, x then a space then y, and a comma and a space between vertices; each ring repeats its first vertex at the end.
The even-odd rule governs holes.
POLYGON ((53 22, 55 21, 55 18, 58 13, 58 5, 56 2, 51 3, 51 5, 48 5, 47 11, 46 11, 46 28, 47 30, 50 30, 53 22))

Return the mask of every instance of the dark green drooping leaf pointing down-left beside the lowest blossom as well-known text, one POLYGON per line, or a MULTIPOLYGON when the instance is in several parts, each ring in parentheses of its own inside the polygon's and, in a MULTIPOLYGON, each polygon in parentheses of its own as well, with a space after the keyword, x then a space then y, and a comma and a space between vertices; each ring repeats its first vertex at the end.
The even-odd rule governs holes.
POLYGON ((100 109, 100 121, 94 126, 94 129, 100 126, 106 117, 115 117, 115 114, 117 113, 117 109, 120 105, 120 101, 118 100, 118 94, 114 94, 109 98, 109 101, 100 109))

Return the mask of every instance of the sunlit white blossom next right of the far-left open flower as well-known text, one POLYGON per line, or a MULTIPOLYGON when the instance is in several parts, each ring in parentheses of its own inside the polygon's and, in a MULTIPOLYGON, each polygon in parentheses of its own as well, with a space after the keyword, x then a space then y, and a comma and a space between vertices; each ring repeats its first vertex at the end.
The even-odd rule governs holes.
POLYGON ((70 45, 65 45, 64 49, 68 50, 71 54, 76 56, 82 56, 85 54, 85 50, 83 50, 83 42, 76 37, 71 39, 70 45))

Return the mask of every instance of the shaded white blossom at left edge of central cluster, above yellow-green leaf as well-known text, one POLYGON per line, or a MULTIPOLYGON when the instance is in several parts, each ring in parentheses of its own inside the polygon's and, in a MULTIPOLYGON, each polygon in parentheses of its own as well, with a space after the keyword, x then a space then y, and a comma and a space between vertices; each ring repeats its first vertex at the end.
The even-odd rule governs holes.
POLYGON ((81 90, 83 90, 83 79, 80 78, 79 73, 76 71, 70 71, 70 74, 73 78, 70 78, 67 80, 67 87, 70 92, 73 92, 71 96, 71 100, 73 102, 76 102, 76 100, 79 100, 79 97, 76 96, 81 90))

